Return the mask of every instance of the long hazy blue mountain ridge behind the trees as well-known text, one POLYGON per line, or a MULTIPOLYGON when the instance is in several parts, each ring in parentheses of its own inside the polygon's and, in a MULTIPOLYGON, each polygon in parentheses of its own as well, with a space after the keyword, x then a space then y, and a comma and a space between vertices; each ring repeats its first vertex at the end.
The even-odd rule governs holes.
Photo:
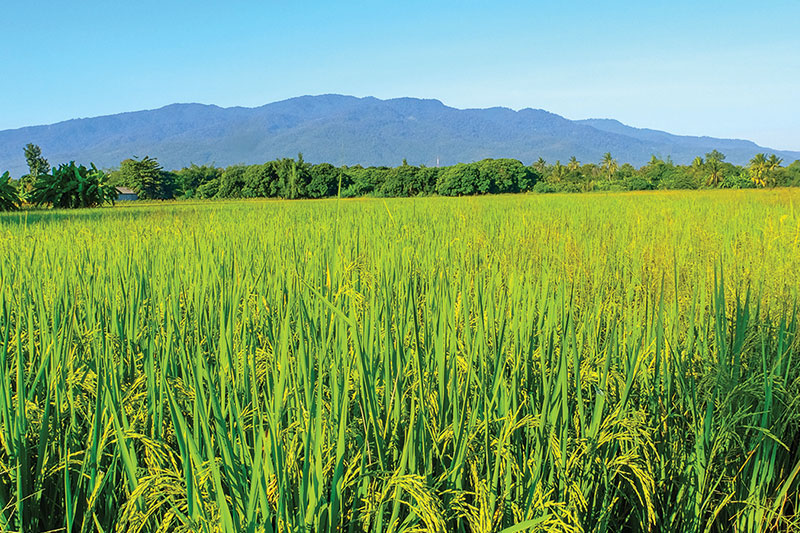
POLYGON ((616 120, 568 120, 541 109, 455 109, 438 100, 301 96, 261 107, 173 104, 150 111, 74 119, 0 131, 0 171, 27 171, 23 147, 38 144, 51 164, 75 160, 100 168, 149 155, 169 169, 190 163, 263 163, 302 152, 337 165, 448 165, 487 157, 525 163, 600 161, 605 152, 642 165, 652 154, 688 163, 717 149, 733 163, 758 152, 784 161, 800 152, 750 141, 688 137, 638 129, 616 120))

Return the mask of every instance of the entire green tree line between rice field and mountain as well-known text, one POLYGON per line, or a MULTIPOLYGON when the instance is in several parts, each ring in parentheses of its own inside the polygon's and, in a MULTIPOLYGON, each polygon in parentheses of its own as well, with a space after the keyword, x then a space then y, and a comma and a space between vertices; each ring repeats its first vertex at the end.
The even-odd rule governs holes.
POLYGON ((131 188, 140 199, 181 198, 326 198, 341 196, 465 196, 517 192, 636 191, 656 189, 745 189, 800 186, 800 161, 783 166, 777 156, 757 154, 741 166, 725 161, 713 150, 690 165, 653 156, 639 168, 620 165, 610 153, 598 162, 548 163, 539 158, 531 165, 516 159, 484 159, 444 167, 396 167, 311 164, 303 159, 281 158, 255 165, 192 164, 167 171, 156 158, 132 158, 119 168, 98 170, 76 165, 51 169, 38 146, 25 147, 29 174, 12 183, 8 173, 0 179, 0 209, 22 203, 35 206, 92 207, 116 199, 116 187, 131 188))

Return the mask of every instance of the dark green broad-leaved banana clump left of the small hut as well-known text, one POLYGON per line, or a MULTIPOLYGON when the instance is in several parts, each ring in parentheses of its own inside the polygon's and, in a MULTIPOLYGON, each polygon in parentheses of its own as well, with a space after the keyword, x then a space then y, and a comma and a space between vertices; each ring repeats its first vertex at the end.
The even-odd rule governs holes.
POLYGON ((76 165, 59 165, 50 174, 42 174, 30 192, 29 201, 36 206, 52 205, 55 208, 73 209, 96 207, 114 203, 117 190, 108 183, 108 176, 93 164, 91 168, 76 165))

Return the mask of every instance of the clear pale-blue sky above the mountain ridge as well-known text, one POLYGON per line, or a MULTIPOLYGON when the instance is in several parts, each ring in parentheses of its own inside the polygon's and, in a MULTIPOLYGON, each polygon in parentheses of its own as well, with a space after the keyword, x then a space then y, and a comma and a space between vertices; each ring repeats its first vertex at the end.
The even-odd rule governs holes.
POLYGON ((800 150, 800 1, 0 0, 0 129, 324 93, 800 150))

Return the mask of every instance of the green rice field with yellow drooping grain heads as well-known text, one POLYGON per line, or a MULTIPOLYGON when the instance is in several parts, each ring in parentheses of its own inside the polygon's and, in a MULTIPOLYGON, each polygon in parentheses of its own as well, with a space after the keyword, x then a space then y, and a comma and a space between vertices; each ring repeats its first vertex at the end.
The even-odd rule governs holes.
POLYGON ((2 531, 800 528, 800 190, 0 216, 2 531))

